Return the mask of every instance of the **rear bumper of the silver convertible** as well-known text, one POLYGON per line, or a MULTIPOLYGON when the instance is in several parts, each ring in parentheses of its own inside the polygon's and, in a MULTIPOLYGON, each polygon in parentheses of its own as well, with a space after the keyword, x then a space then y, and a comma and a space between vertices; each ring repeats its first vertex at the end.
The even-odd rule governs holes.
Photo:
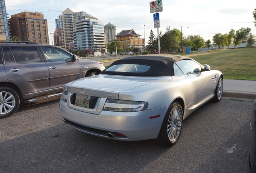
POLYGON ((167 109, 168 107, 163 107, 130 113, 101 111, 99 114, 91 114, 71 109, 66 102, 60 100, 60 114, 70 126, 85 133, 105 138, 109 138, 104 134, 105 132, 121 133, 125 137, 109 138, 120 141, 156 139, 167 109), (155 115, 161 116, 149 118, 155 115), (99 133, 97 130, 103 133, 99 133))

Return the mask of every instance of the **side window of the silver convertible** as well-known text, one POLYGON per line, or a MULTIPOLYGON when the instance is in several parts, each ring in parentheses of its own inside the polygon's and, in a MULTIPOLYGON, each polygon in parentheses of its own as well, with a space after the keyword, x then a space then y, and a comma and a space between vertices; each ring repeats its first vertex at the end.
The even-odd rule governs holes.
POLYGON ((193 60, 180 60, 176 62, 185 75, 201 72, 201 66, 193 60))

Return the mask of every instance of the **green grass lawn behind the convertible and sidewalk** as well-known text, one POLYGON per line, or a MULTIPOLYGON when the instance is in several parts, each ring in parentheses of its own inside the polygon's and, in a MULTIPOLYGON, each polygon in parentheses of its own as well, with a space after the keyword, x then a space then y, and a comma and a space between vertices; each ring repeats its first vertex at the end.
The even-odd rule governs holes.
MULTIPOLYGON (((211 69, 220 70, 224 79, 256 80, 256 48, 240 48, 225 50, 209 50, 194 54, 178 53, 178 55, 193 58, 200 64, 208 64, 211 69)), ((117 59, 101 60, 101 62, 114 62, 117 59)), ((109 66, 106 64, 105 67, 109 66)))

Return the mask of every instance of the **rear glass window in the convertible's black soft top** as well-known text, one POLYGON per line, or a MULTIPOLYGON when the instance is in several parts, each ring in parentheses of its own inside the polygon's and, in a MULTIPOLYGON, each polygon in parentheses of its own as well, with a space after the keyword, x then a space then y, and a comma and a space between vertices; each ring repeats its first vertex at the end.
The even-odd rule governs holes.
POLYGON ((110 66, 106 71, 115 71, 115 72, 146 72, 150 66, 140 65, 140 64, 116 64, 110 66))

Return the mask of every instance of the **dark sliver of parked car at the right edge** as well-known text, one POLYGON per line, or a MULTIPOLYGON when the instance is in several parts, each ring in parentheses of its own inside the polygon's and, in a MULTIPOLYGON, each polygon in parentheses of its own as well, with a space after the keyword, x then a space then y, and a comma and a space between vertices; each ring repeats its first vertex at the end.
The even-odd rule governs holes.
POLYGON ((249 140, 249 166, 256 173, 256 99, 251 111, 249 140))

